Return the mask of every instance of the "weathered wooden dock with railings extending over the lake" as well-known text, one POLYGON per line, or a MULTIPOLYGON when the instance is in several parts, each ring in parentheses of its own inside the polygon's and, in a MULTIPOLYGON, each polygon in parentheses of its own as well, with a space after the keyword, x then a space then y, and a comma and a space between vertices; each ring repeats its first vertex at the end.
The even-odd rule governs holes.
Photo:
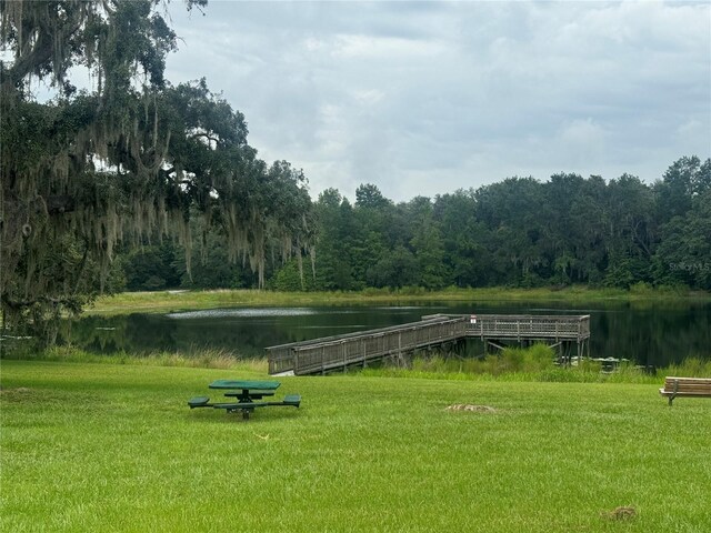
POLYGON ((419 322, 381 328, 344 335, 327 336, 267 348, 269 373, 294 375, 322 374, 365 365, 370 361, 403 358, 417 350, 433 349, 464 339, 480 339, 484 346, 503 349, 545 342, 570 359, 572 346, 578 356, 589 351, 590 315, 444 315, 423 316, 419 322))

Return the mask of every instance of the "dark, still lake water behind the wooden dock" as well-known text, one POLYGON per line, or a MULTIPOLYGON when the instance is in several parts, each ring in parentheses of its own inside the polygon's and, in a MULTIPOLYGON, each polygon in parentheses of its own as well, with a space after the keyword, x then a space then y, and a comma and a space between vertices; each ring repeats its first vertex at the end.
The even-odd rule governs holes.
MULTIPOLYGON (((191 354, 203 349, 239 356, 263 356, 264 348, 340 333, 403 324, 422 315, 590 314, 593 358, 629 359, 667 366, 697 356, 711 359, 711 302, 623 304, 431 303, 421 305, 349 305, 234 308, 169 314, 84 316, 64 329, 61 341, 87 351, 156 351, 191 354)), ((470 341, 473 343, 475 341, 470 341)), ((482 349, 472 346, 472 353, 482 349)))

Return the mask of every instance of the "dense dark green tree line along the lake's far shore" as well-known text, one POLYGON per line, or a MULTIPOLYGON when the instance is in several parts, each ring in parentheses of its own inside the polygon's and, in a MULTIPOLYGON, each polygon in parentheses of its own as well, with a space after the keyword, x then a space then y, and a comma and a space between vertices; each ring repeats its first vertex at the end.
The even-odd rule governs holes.
MULTIPOLYGON (((630 174, 605 181, 560 173, 400 203, 362 184, 354 203, 329 189, 311 210, 312 255, 272 257, 268 288, 711 290, 711 160, 695 155, 680 158, 651 184, 630 174)), ((219 231, 194 253, 192 281, 183 252, 168 242, 131 252, 118 278, 130 290, 257 286, 249 269, 226 261, 219 231)))

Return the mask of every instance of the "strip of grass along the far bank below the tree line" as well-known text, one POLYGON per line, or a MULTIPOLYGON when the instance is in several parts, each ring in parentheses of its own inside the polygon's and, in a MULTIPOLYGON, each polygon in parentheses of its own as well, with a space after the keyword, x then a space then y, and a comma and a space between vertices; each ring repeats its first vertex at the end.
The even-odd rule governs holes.
POLYGON ((124 292, 102 296, 88 309, 89 313, 120 314, 133 312, 164 312, 221 306, 268 305, 338 305, 353 303, 413 303, 432 301, 541 301, 541 302, 650 302, 709 300, 708 293, 647 289, 588 289, 571 286, 553 289, 447 289, 424 291, 420 288, 399 290, 368 289, 361 292, 272 292, 257 290, 124 292))

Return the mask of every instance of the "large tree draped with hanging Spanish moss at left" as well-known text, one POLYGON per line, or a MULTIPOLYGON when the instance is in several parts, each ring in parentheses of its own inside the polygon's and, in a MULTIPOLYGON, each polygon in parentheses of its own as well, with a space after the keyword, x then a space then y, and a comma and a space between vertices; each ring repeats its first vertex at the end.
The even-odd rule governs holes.
POLYGON ((0 2, 0 38, 13 53, 0 66, 0 300, 10 323, 79 311, 121 242, 173 238, 190 271, 191 213, 223 232, 230 260, 249 259, 260 286, 268 248, 299 258, 310 249, 302 173, 259 160, 243 115, 204 80, 163 79, 176 34, 161 7, 0 2), (92 91, 71 84, 78 66, 90 69, 92 91), (31 79, 57 95, 37 101, 31 79))

